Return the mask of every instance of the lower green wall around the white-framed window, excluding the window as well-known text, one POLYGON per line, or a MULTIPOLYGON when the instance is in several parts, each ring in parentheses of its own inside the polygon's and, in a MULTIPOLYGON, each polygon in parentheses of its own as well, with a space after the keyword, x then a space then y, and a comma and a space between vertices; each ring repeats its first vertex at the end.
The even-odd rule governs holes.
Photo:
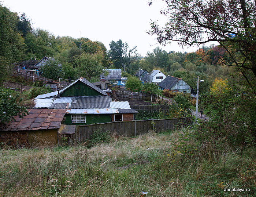
POLYGON ((84 124, 97 124, 97 123, 109 123, 111 122, 110 114, 95 114, 95 115, 85 115, 86 123, 72 123, 71 114, 66 114, 64 116, 66 120, 64 124, 76 124, 76 125, 84 125, 84 124))

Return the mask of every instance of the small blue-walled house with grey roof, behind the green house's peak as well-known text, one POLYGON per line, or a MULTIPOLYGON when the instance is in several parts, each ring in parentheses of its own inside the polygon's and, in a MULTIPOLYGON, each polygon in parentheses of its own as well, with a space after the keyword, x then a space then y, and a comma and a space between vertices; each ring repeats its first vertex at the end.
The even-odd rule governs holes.
POLYGON ((125 86, 127 77, 122 77, 122 69, 107 69, 108 75, 100 75, 100 78, 111 81, 111 84, 125 86))

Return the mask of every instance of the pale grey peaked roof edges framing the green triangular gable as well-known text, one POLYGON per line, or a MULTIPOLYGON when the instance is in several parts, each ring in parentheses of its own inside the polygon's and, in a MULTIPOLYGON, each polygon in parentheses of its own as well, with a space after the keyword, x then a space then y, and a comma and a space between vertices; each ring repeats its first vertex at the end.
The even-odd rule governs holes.
MULTIPOLYGON (((63 88, 62 90, 59 91, 59 93, 61 94, 64 90, 68 89, 70 86, 74 85, 77 81, 81 81, 84 84, 88 85, 90 88, 96 90, 97 92, 107 96, 108 94, 105 93, 103 90, 101 90, 100 88, 98 88, 96 85, 93 85, 92 83, 90 83, 88 80, 86 80, 83 77, 80 77, 79 79, 75 80, 73 83, 71 83, 70 85, 68 85, 66 88, 63 88)), ((57 96, 58 91, 55 92, 50 92, 47 94, 41 94, 38 95, 35 99, 45 99, 45 98, 54 98, 55 96, 57 96)))

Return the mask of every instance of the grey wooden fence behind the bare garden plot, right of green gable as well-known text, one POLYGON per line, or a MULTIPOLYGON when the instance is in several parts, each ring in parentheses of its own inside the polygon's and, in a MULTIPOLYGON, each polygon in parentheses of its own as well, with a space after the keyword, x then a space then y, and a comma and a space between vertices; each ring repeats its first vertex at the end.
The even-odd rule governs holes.
POLYGON ((113 94, 117 99, 127 99, 127 100, 146 100, 155 102, 156 94, 146 94, 142 92, 131 92, 127 90, 113 90, 113 94))

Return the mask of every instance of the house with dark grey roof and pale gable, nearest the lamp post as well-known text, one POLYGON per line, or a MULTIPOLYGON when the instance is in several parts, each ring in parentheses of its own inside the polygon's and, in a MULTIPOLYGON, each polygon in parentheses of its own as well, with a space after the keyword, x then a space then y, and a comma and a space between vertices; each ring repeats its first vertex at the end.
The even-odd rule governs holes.
POLYGON ((162 90, 170 89, 173 92, 191 93, 190 86, 182 78, 178 77, 167 76, 160 82, 159 87, 162 90))

